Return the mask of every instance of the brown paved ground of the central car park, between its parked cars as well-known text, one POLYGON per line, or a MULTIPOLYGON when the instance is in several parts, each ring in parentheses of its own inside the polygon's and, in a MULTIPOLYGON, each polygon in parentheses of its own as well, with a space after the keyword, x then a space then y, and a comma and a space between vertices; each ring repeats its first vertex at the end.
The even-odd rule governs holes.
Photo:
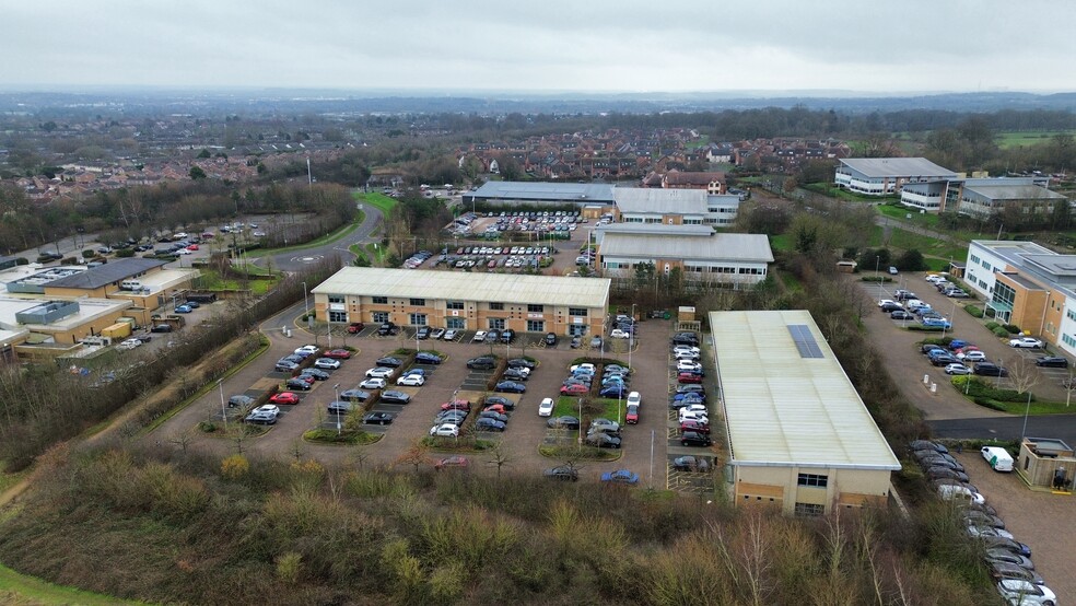
MULTIPOLYGON (((292 317, 300 311, 292 312, 292 317)), ((276 326, 280 321, 267 322, 267 326, 276 326), (271 324, 272 323, 272 324, 271 324)), ((675 411, 669 409, 670 391, 675 387, 676 364, 669 354, 669 335, 671 322, 664 319, 645 319, 636 324, 635 336, 630 341, 635 347, 631 352, 633 372, 630 388, 640 392, 639 424, 622 428, 622 448, 617 451, 619 458, 611 462, 582 462, 580 476, 583 480, 596 481, 601 473, 628 468, 639 474, 642 485, 653 481, 655 487, 670 486, 687 491, 709 491, 713 466, 712 451, 703 447, 685 447, 680 445, 677 432, 675 411), (653 442, 653 448, 652 448, 653 442), (653 453, 653 458, 652 458, 653 453), (672 469, 672 459, 681 455, 694 455, 700 459, 705 456, 707 464, 700 470, 698 466, 683 469, 672 469)), ((213 389, 199 401, 177 413, 161 430, 168 436, 185 429, 196 428, 200 421, 220 419, 220 397, 245 394, 258 397, 273 385, 282 384, 291 373, 273 371, 276 361, 292 353, 296 348, 313 343, 315 338, 301 329, 295 329, 292 337, 284 336, 280 330, 267 330, 271 346, 269 351, 260 356, 247 366, 230 376, 221 385, 223 394, 213 389)), ((397 387, 411 396, 406 405, 384 404, 375 401, 370 411, 388 412, 393 416, 390 424, 365 426, 364 429, 382 433, 383 438, 375 444, 362 447, 363 458, 369 464, 393 465, 408 448, 429 435, 434 417, 441 412, 442 405, 454 399, 469 399, 472 406, 486 396, 491 371, 469 370, 466 362, 478 356, 489 356, 491 352, 502 359, 526 356, 535 359, 538 364, 525 382, 526 392, 523 394, 495 394, 505 396, 516 404, 514 409, 505 411, 508 418, 503 432, 483 432, 484 438, 498 439, 508 458, 506 471, 522 474, 540 474, 542 469, 561 464, 551 457, 542 456, 539 447, 547 443, 550 430, 547 419, 538 416, 538 404, 545 397, 557 398, 559 389, 572 360, 590 356, 597 359, 613 358, 608 351, 594 349, 585 351, 572 349, 570 340, 561 338, 555 346, 546 346, 543 335, 521 334, 511 345, 472 342, 472 331, 457 335, 453 341, 419 340, 422 350, 435 350, 444 359, 440 365, 409 365, 421 368, 425 373, 425 383, 421 386, 397 387)), ((327 336, 318 335, 318 345, 324 349, 328 346, 327 336)), ((329 413, 329 403, 337 399, 337 394, 356 388, 363 381, 367 369, 374 368, 378 358, 387 356, 399 348, 414 349, 416 339, 412 328, 405 328, 399 335, 376 336, 372 327, 363 328, 359 334, 346 334, 346 326, 337 327, 334 331, 332 346, 344 345, 355 348, 351 359, 342 360, 337 370, 329 370, 329 377, 315 381, 308 392, 296 392, 300 403, 281 405, 278 422, 257 438, 245 440, 242 448, 246 453, 280 457, 292 454, 296 448, 308 455, 317 456, 326 462, 353 462, 353 448, 308 443, 302 440, 304 432, 312 429, 335 430, 338 420, 329 413)), ((618 345, 621 353, 616 359, 628 361, 628 341, 618 345)), ((401 371, 407 370, 400 369, 401 371)), ((394 380, 395 381, 395 380, 394 380)), ((230 421, 238 421, 238 411, 231 412, 230 421)), ((469 419, 470 420, 470 419, 469 419)), ((203 434, 197 429, 196 441, 210 450, 226 453, 234 452, 235 444, 220 436, 203 434)), ((577 432, 566 432, 565 443, 577 440, 577 432), (572 433, 572 435, 569 435, 572 433)), ((430 462, 441 456, 436 452, 429 454, 430 462)), ((482 453, 467 454, 471 459, 471 469, 481 473, 489 456, 482 453), (477 468, 477 469, 476 469, 477 468)))

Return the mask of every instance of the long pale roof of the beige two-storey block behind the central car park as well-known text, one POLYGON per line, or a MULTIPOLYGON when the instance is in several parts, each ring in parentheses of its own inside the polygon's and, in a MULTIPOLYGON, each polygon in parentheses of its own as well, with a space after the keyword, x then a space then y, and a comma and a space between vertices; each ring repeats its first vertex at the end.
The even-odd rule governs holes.
POLYGON ((344 267, 312 292, 605 307, 608 278, 344 267))

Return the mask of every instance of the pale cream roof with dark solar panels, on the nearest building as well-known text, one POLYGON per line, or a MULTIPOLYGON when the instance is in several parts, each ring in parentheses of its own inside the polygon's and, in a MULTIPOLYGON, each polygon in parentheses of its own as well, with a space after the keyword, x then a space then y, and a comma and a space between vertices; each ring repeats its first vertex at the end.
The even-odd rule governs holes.
POLYGON ((901 468, 810 313, 711 312, 710 326, 734 465, 901 468))

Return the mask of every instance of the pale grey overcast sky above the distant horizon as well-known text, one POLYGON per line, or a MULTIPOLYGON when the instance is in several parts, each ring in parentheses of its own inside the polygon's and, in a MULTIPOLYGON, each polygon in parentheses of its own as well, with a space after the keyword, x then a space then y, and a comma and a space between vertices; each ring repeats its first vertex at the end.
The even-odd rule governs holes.
POLYGON ((0 86, 1076 91, 1067 0, 0 0, 0 86))

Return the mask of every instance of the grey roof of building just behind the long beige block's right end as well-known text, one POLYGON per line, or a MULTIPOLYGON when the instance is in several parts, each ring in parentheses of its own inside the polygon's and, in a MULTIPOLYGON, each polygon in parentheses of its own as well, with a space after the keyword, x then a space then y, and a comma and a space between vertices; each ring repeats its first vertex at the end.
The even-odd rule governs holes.
POLYGON ((603 257, 773 261, 770 240, 764 234, 715 233, 699 237, 606 233, 598 252, 603 257))

